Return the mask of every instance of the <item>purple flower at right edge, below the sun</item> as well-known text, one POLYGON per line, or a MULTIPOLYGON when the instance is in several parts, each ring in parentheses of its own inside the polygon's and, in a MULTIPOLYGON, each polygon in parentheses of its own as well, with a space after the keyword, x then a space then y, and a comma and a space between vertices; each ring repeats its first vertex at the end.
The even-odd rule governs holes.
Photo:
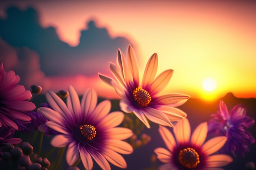
POLYGON ((247 132, 245 128, 249 128, 254 124, 254 119, 246 116, 246 110, 241 105, 236 105, 228 111, 226 104, 220 100, 218 112, 212 115, 209 121, 209 134, 224 135, 227 137, 227 143, 223 147, 222 152, 231 152, 234 156, 235 151, 244 156, 245 152, 249 152, 248 145, 255 142, 252 134, 247 132))

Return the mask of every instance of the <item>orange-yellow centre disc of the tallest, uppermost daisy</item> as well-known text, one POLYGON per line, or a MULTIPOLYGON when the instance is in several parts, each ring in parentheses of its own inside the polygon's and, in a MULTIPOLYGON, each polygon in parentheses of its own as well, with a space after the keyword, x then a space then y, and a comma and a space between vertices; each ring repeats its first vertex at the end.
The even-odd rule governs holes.
POLYGON ((151 96, 145 89, 137 87, 133 90, 133 97, 140 106, 148 106, 151 96))

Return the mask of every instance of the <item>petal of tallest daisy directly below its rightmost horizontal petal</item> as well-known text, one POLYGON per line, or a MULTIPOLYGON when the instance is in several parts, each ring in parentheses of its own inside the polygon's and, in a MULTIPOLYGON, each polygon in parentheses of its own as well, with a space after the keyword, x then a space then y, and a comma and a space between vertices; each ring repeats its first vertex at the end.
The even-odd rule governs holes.
POLYGON ((171 106, 160 106, 157 108, 157 110, 161 110, 163 113, 165 113, 170 121, 180 121, 187 116, 182 110, 171 106))

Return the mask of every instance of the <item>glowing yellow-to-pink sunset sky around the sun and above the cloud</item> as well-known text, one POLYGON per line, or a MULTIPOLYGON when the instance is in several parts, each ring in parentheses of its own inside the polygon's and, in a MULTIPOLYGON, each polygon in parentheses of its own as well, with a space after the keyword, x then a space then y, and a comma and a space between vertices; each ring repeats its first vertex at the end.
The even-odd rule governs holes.
MULTIPOLYGON (((203 99, 216 99, 228 92, 236 97, 256 97, 255 0, 12 1, 0 2, 1 17, 6 17, 9 6, 35 8, 42 26, 54 26, 60 40, 70 46, 79 44, 80 31, 93 19, 112 38, 121 36, 132 42, 137 49, 141 78, 148 58, 157 53, 157 73, 174 70, 164 92, 203 99), (211 92, 202 87, 208 77, 217 84, 211 92)), ((126 54, 126 49, 123 52, 126 54)), ((95 83, 89 86, 100 96, 115 94, 111 88, 106 93, 106 85, 96 76, 76 79, 95 83)), ((47 79, 58 82, 53 76, 47 79)), ((69 82, 74 83, 72 78, 69 82)), ((81 91, 89 87, 77 84, 81 91)))

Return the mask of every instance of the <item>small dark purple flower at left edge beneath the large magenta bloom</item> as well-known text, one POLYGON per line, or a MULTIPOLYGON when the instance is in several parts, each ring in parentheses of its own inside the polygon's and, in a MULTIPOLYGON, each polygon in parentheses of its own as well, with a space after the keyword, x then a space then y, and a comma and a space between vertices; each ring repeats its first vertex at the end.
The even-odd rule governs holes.
POLYGON ((3 146, 4 144, 11 144, 11 145, 16 145, 21 142, 20 138, 13 137, 15 132, 15 129, 7 126, 7 127, 0 127, 0 147, 3 146))

